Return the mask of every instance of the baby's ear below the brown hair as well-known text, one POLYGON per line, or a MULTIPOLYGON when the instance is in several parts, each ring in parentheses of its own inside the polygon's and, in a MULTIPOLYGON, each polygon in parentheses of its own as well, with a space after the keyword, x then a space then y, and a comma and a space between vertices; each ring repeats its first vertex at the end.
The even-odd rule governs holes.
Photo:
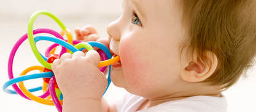
POLYGON ((180 77, 188 82, 200 82, 210 77, 218 66, 216 55, 211 51, 206 51, 205 63, 193 54, 193 60, 186 61, 180 77))

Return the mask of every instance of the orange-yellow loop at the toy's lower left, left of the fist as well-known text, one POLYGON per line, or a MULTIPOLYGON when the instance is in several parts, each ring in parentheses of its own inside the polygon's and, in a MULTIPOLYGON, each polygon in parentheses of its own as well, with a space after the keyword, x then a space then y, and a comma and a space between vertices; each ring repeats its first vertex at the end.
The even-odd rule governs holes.
MULTIPOLYGON (((30 72, 31 70, 40 70, 40 71, 44 71, 44 67, 41 66, 33 66, 33 67, 29 67, 26 68, 26 70, 24 70, 20 76, 24 76, 26 75, 28 72, 30 72)), ((50 106, 54 106, 54 103, 52 102, 52 100, 47 100, 47 99, 42 99, 40 97, 36 97, 35 95, 33 95, 32 93, 30 93, 24 86, 23 81, 19 82, 19 87, 20 90, 27 96, 29 97, 29 99, 31 100, 35 100, 36 102, 39 102, 41 104, 46 104, 46 105, 50 105, 50 106)), ((63 104, 63 100, 60 100, 60 104, 63 104)))

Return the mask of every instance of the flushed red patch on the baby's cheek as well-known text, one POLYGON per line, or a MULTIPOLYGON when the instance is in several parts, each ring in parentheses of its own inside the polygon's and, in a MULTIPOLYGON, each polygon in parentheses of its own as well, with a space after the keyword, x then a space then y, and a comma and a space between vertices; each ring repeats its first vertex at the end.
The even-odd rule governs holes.
POLYGON ((122 38, 119 46, 120 58, 124 77, 129 86, 141 87, 150 83, 148 78, 149 67, 143 60, 141 48, 129 38, 122 38))

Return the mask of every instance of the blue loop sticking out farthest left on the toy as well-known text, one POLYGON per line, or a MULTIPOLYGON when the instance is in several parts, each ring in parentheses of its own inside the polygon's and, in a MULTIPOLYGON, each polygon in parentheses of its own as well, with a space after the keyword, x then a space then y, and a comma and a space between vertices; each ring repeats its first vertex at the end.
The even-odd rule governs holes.
MULTIPOLYGON (((52 76, 53 76, 52 72, 44 72, 44 73, 38 73, 38 74, 31 74, 31 75, 27 75, 27 76, 16 77, 16 78, 10 79, 6 83, 4 83, 3 90, 6 93, 15 94, 16 93, 15 91, 7 89, 8 86, 11 86, 12 84, 19 83, 21 81, 26 81, 26 80, 29 80, 29 79, 38 79, 38 78, 44 78, 44 77, 51 78, 52 76)), ((37 87, 37 88, 29 89, 29 92, 35 92, 35 90, 39 90, 39 88, 40 88, 40 90, 42 90, 42 86, 40 86, 40 87, 37 87)))

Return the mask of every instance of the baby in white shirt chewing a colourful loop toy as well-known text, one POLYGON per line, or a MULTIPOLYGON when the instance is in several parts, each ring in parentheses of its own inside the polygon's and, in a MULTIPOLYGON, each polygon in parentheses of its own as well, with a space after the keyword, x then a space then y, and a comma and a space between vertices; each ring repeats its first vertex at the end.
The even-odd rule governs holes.
MULTIPOLYGON (((65 53, 52 63, 68 111, 227 111, 221 92, 255 56, 253 0, 124 0, 124 12, 99 38, 92 26, 77 28, 77 39, 98 41, 120 62, 111 67, 124 99, 108 104, 99 54, 65 53)), ((95 49, 97 50, 97 49, 95 49)))

